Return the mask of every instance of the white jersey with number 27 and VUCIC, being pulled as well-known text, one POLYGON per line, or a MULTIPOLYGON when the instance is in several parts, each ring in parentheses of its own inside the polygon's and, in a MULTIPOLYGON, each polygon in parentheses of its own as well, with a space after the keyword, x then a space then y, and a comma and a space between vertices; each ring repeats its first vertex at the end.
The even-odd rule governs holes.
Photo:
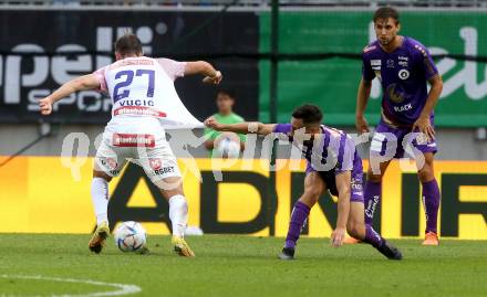
POLYGON ((174 86, 174 81, 184 76, 185 67, 186 62, 138 56, 94 72, 100 81, 99 92, 110 94, 113 103, 107 131, 134 130, 134 125, 137 130, 151 130, 154 125, 158 129, 203 126, 183 105, 174 86))

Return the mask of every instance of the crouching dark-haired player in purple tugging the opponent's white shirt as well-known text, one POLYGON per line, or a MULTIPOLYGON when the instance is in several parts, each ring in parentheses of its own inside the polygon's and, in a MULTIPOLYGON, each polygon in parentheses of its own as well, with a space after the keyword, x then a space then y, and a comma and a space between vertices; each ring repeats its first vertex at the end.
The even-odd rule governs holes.
POLYGON ((209 118, 205 125, 218 131, 258 135, 277 134, 302 150, 307 159, 304 193, 296 202, 289 223, 281 259, 294 258, 294 248, 301 229, 318 199, 329 190, 338 195, 336 227, 331 244, 341 246, 345 230, 358 240, 374 246, 391 259, 401 259, 401 252, 364 222, 362 192, 362 160, 353 139, 345 132, 321 125, 322 113, 314 105, 303 105, 292 113, 291 124, 239 123, 226 125, 209 118), (308 138, 308 139, 307 139, 308 138))

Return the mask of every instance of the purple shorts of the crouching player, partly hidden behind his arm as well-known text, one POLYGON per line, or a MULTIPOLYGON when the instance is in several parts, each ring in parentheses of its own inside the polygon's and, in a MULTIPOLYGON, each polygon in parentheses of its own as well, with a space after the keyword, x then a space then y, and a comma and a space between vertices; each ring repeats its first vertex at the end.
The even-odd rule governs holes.
MULTIPOLYGON (((307 161, 307 176, 311 172, 318 172, 320 174, 321 179, 327 184, 327 188, 330 191, 330 194, 335 195, 335 197, 339 195, 339 190, 336 189, 336 180, 335 180, 336 172, 334 169, 329 170, 329 171, 317 171, 314 168, 311 167, 311 163, 307 161)), ((360 159, 360 165, 354 163, 350 187, 351 187, 350 202, 364 203, 364 200, 363 200, 363 170, 362 170, 362 160, 361 159, 360 159)))

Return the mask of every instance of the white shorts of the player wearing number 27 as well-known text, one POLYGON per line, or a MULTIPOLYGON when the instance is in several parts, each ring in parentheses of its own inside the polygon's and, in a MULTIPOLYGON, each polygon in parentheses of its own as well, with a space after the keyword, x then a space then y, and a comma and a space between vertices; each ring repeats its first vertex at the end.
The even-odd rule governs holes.
POLYGON ((127 161, 141 166, 154 183, 166 178, 180 177, 176 157, 164 136, 105 130, 96 151, 95 170, 117 177, 127 161))

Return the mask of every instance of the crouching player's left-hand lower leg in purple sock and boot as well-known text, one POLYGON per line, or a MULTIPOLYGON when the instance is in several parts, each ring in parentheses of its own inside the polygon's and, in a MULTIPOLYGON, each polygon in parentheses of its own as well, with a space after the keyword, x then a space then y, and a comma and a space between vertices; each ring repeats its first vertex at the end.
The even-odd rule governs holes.
POLYGON ((282 248, 279 258, 293 259, 296 243, 298 242, 302 226, 310 214, 310 206, 301 201, 296 202, 291 213, 291 221, 289 222, 288 236, 286 237, 286 244, 282 248))

